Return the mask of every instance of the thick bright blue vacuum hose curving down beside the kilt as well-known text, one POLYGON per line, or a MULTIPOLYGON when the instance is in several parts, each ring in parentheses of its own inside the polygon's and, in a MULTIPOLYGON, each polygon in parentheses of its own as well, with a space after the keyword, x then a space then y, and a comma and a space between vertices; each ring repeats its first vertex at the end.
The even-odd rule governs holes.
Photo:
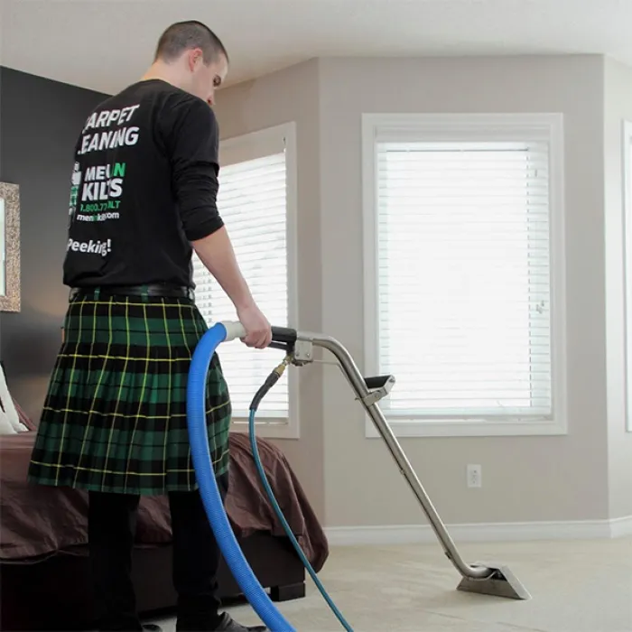
POLYGON ((189 425, 193 467, 200 486, 200 496, 207 516, 209 516, 215 539, 218 541, 219 549, 239 587, 244 591, 246 599, 255 609, 256 614, 273 632, 296 632, 296 629, 274 606, 272 599, 268 597, 263 586, 256 579, 255 573, 246 562, 246 557, 242 553, 228 522, 210 460, 209 432, 206 421, 207 376, 210 358, 213 357, 218 345, 226 339, 228 339, 226 326, 222 323, 214 325, 202 336, 191 358, 187 385, 187 423, 189 425))

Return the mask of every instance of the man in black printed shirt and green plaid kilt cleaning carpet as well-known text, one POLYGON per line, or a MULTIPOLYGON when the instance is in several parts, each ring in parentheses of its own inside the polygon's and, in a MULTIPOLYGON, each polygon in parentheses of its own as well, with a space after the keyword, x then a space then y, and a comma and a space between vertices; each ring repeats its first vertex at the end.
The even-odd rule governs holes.
MULTIPOLYGON (((227 72, 228 54, 208 27, 172 24, 144 77, 98 106, 76 145, 63 268, 70 304, 29 479, 88 490, 101 630, 143 629, 130 581, 142 495, 169 497, 176 630, 265 630, 218 612, 220 553, 186 419, 191 354, 207 329, 192 299, 192 250, 234 303, 243 342, 263 349, 272 337, 216 207, 211 106, 227 72)), ((225 494, 231 408, 217 356, 206 405, 225 494)))

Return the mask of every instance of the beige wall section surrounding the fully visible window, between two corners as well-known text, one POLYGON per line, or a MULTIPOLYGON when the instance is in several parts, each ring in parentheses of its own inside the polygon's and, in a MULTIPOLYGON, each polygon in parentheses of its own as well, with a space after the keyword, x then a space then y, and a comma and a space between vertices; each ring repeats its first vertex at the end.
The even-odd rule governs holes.
MULTIPOLYGON (((599 57, 321 60, 321 237, 322 251, 328 252, 322 324, 349 345, 358 362, 363 352, 361 113, 564 115, 570 432, 401 440, 449 523, 608 516, 602 85, 599 57), (466 487, 467 463, 482 465, 482 488, 466 487)), ((364 438, 363 414, 333 371, 325 372, 323 413, 328 525, 423 522, 385 446, 364 438)))

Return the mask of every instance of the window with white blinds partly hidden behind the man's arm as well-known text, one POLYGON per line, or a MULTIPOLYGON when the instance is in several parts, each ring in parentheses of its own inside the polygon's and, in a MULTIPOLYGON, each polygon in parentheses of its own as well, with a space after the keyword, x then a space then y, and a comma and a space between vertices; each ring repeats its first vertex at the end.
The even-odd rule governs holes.
MULTIPOLYGON (((281 125, 220 143, 218 209, 242 273, 267 319, 295 327, 294 223, 296 206, 293 125, 281 125)), ((196 302, 210 326, 236 321, 228 295, 194 254, 196 302)), ((248 349, 240 340, 218 348, 228 382, 233 424, 247 431, 250 402, 283 359, 278 349, 248 349)), ((295 371, 288 369, 257 410, 263 436, 298 437, 295 371)))

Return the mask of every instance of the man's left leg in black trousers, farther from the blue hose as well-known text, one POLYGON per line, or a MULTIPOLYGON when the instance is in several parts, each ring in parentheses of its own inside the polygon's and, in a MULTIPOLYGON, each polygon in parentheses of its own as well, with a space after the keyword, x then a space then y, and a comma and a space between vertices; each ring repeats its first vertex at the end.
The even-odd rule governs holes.
POLYGON ((88 547, 99 630, 142 630, 131 579, 139 497, 89 492, 88 547))

